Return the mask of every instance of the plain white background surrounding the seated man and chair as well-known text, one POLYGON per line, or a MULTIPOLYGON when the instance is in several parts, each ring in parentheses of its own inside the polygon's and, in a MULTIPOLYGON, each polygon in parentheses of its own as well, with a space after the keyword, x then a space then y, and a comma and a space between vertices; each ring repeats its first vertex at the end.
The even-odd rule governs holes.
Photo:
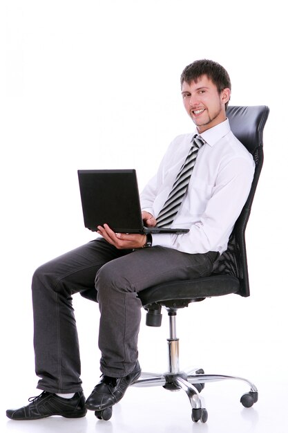
MULTIPOLYGON (((287 432, 287 20, 284 3, 188 0, 0 0, 1 432, 287 432), (247 228, 251 297, 181 311, 181 367, 254 381, 207 385, 209 422, 163 389, 128 389, 107 423, 7 421, 35 389, 33 270, 93 239, 77 169, 135 168, 140 189, 169 142, 193 124, 180 74, 195 59, 222 64, 232 105, 266 104, 265 165, 247 228), (219 391, 219 392, 218 392, 219 391), (165 409, 166 405, 166 409, 165 409), (143 429, 143 430, 142 430, 143 429)), ((97 304, 75 296, 86 396, 99 378, 97 304)), ((165 371, 167 320, 140 333, 144 370, 165 371)))

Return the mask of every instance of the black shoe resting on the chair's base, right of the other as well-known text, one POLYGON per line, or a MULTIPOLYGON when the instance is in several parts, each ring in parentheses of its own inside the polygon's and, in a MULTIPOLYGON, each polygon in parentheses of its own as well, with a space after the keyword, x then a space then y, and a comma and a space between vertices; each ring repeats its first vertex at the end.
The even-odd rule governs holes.
POLYGON ((90 410, 102 410, 115 405, 124 396, 126 389, 141 376, 139 362, 134 370, 124 378, 102 376, 92 393, 86 400, 85 406, 90 410))

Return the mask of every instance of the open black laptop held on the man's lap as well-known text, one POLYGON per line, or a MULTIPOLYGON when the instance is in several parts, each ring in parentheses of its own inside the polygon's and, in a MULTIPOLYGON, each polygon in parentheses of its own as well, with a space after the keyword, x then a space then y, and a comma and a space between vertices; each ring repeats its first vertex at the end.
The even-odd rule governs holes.
POLYGON ((119 233, 186 233, 188 228, 144 227, 135 169, 78 170, 85 227, 108 224, 119 233))

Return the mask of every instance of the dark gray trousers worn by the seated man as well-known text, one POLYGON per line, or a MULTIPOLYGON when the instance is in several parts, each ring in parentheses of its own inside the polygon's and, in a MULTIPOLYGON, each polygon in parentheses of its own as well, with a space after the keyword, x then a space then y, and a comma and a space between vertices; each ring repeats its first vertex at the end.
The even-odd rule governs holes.
POLYGON ((100 369, 123 377, 137 362, 141 307, 137 293, 171 279, 211 274, 215 252, 186 254, 155 246, 117 250, 95 239, 40 266, 32 279, 37 387, 81 391, 81 365, 72 295, 97 291, 100 369))

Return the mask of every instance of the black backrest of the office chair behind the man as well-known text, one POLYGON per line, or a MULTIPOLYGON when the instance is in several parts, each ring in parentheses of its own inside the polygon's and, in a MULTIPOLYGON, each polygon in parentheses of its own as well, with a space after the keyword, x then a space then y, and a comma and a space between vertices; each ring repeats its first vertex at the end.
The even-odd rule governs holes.
POLYGON ((251 212, 251 205, 263 164, 263 129, 268 118, 269 108, 265 105, 255 107, 228 107, 231 130, 253 155, 256 164, 255 174, 247 202, 242 209, 231 233, 228 248, 215 263, 214 274, 228 274, 240 282, 238 295, 249 296, 249 277, 245 244, 245 229, 251 212))

